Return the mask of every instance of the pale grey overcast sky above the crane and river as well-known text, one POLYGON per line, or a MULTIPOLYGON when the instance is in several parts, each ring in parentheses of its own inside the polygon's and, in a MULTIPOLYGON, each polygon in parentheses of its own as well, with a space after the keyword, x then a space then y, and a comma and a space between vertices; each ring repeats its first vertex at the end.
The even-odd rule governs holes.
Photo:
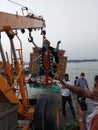
MULTIPOLYGON (((68 59, 98 59, 98 0, 1 0, 0 11, 22 14, 21 6, 28 7, 35 15, 41 15, 46 22, 46 37, 51 46, 66 50, 68 59)), ((32 13, 31 12, 31 13, 32 13)), ((38 46, 42 44, 40 31, 32 33, 38 46)), ((28 34, 19 35, 23 45, 24 60, 29 61, 32 44, 28 34), (27 38, 26 38, 27 37, 27 38)), ((4 49, 9 44, 4 44, 4 49)), ((4 41, 3 41, 4 40, 4 41)))

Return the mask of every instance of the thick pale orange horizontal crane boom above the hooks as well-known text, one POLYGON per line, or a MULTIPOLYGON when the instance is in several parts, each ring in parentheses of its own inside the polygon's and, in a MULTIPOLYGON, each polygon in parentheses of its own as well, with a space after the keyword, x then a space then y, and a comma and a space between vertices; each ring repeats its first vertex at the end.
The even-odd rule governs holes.
POLYGON ((18 14, 0 12, 0 21, 0 32, 5 31, 5 26, 9 26, 12 30, 28 28, 41 29, 45 27, 45 20, 33 14, 20 16, 18 14))

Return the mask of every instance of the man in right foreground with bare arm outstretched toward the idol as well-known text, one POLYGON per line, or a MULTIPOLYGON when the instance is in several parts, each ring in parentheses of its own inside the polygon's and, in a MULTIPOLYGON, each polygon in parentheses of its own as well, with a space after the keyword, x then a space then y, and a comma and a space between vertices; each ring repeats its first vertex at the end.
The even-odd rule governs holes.
POLYGON ((95 76, 94 79, 94 87, 93 90, 85 90, 80 87, 76 87, 73 85, 66 84, 63 80, 60 79, 63 88, 70 89, 71 91, 75 92, 76 94, 81 94, 86 98, 92 99, 94 101, 94 110, 93 112, 87 117, 86 125, 84 122, 84 114, 81 111, 80 113, 80 130, 98 130, 98 75, 95 76))

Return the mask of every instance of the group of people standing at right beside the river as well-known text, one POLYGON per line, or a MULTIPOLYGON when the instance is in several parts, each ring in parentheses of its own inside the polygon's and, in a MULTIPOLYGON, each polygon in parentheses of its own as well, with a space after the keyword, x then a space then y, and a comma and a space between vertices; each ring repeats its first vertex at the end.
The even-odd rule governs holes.
POLYGON ((81 73, 80 77, 76 76, 74 85, 69 80, 69 75, 65 74, 65 79, 59 79, 62 84, 62 114, 66 117, 66 101, 68 101, 73 118, 76 119, 75 108, 73 107, 72 92, 77 94, 77 120, 79 122, 80 130, 98 130, 98 75, 94 78, 93 90, 88 87, 85 73, 81 73), (93 112, 86 117, 88 110, 86 98, 94 101, 93 112))

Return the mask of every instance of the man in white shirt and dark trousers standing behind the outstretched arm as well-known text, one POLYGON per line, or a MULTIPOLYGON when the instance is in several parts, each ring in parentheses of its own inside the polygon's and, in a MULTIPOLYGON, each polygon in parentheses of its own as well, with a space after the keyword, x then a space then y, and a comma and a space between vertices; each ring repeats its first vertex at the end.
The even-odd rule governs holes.
MULTIPOLYGON (((65 74, 65 83, 71 84, 69 80, 69 75, 65 74)), ((61 95, 62 95, 62 113, 63 116, 66 117, 66 101, 69 103, 73 118, 76 119, 75 116, 75 110, 73 107, 72 97, 71 97, 71 91, 67 88, 61 89, 61 95)))

